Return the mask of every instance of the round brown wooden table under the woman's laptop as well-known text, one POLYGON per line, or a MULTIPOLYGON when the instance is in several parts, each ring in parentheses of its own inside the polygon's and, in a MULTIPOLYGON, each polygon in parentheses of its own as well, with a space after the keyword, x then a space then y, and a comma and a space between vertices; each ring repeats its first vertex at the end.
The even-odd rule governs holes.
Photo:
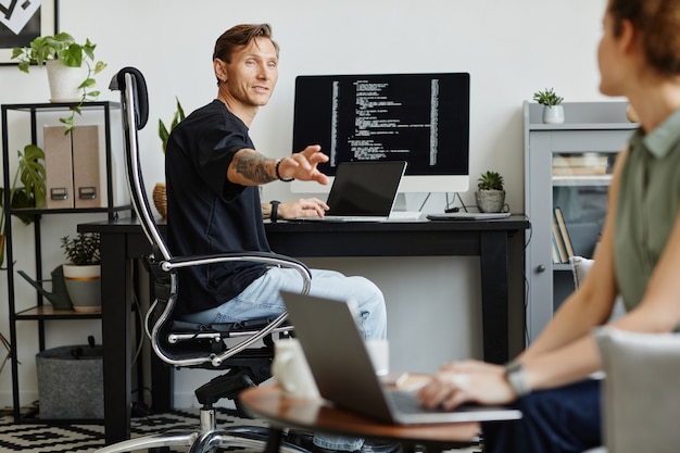
POLYGON ((450 450, 453 446, 468 445, 479 433, 479 425, 476 423, 386 425, 331 407, 320 401, 286 398, 278 386, 247 389, 241 392, 240 400, 245 410, 265 419, 273 428, 266 453, 278 451, 279 429, 282 428, 403 442, 406 446, 405 451, 413 451, 413 446, 417 444, 437 445, 439 450, 450 450))

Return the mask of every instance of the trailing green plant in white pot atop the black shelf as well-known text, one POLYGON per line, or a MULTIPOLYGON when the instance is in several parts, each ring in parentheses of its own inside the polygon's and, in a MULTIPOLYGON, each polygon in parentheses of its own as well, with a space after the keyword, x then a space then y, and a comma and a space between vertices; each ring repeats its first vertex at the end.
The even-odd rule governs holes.
POLYGON ((80 106, 87 99, 96 99, 99 91, 93 90, 95 74, 99 74, 106 64, 95 60, 97 45, 89 39, 78 43, 67 33, 54 36, 39 36, 30 41, 28 48, 14 48, 12 59, 18 61, 18 68, 29 72, 32 64, 46 65, 52 102, 78 102, 71 108, 71 116, 60 118, 66 125, 66 133, 73 129, 75 114, 80 114, 80 106))

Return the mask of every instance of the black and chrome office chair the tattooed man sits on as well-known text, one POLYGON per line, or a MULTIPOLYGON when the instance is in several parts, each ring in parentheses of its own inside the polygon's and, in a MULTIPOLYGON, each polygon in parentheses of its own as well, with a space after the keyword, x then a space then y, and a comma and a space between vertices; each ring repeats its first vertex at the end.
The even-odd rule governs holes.
MULTIPOLYGON (((134 67, 121 70, 111 83, 121 91, 123 129, 125 133, 125 165, 135 212, 147 236, 152 253, 147 256, 152 275, 155 302, 147 314, 147 330, 155 354, 174 367, 196 367, 228 370, 196 390, 202 404, 200 428, 193 431, 168 432, 126 440, 98 450, 98 453, 128 452, 172 445, 189 446, 189 452, 201 453, 228 446, 262 448, 267 439, 262 428, 217 429, 214 403, 223 398, 234 400, 237 412, 241 390, 257 386, 270 377, 269 365, 274 357, 273 335, 287 336, 292 329, 286 324, 287 314, 275 319, 255 319, 248 323, 199 325, 172 319, 177 300, 177 270, 232 261, 249 261, 267 265, 290 267, 300 273, 303 293, 310 289, 311 273, 301 262, 275 253, 225 253, 209 256, 173 256, 158 225, 144 190, 137 131, 148 119, 147 85, 141 73, 134 67), (236 344, 227 344, 236 342, 236 344), (255 345, 255 343, 257 343, 255 345)), ((277 439, 280 442, 280 437, 277 439)), ((284 450, 304 452, 293 444, 284 443, 284 450)))

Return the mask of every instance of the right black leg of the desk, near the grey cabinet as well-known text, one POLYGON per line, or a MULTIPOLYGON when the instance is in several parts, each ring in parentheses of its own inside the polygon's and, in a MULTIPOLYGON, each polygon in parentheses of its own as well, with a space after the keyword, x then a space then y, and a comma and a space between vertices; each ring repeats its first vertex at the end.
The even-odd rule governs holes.
POLYGON ((507 231, 482 231, 480 241, 484 361, 502 364, 509 345, 507 231))

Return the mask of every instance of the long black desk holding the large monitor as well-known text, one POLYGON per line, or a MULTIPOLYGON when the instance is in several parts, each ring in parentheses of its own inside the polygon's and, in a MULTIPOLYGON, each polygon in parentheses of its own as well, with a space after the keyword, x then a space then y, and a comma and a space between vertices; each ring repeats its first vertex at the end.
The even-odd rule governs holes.
MULTIPOLYGON (((298 257, 480 256, 483 355, 493 363, 508 360, 508 237, 527 228, 529 222, 520 215, 483 222, 266 225, 273 250, 298 257)), ((110 444, 130 433, 131 259, 149 253, 150 247, 137 221, 128 218, 80 224, 78 232, 101 235, 104 429, 110 444)), ((154 408, 163 410, 164 402, 172 407, 167 378, 154 377, 152 389, 154 408)))

